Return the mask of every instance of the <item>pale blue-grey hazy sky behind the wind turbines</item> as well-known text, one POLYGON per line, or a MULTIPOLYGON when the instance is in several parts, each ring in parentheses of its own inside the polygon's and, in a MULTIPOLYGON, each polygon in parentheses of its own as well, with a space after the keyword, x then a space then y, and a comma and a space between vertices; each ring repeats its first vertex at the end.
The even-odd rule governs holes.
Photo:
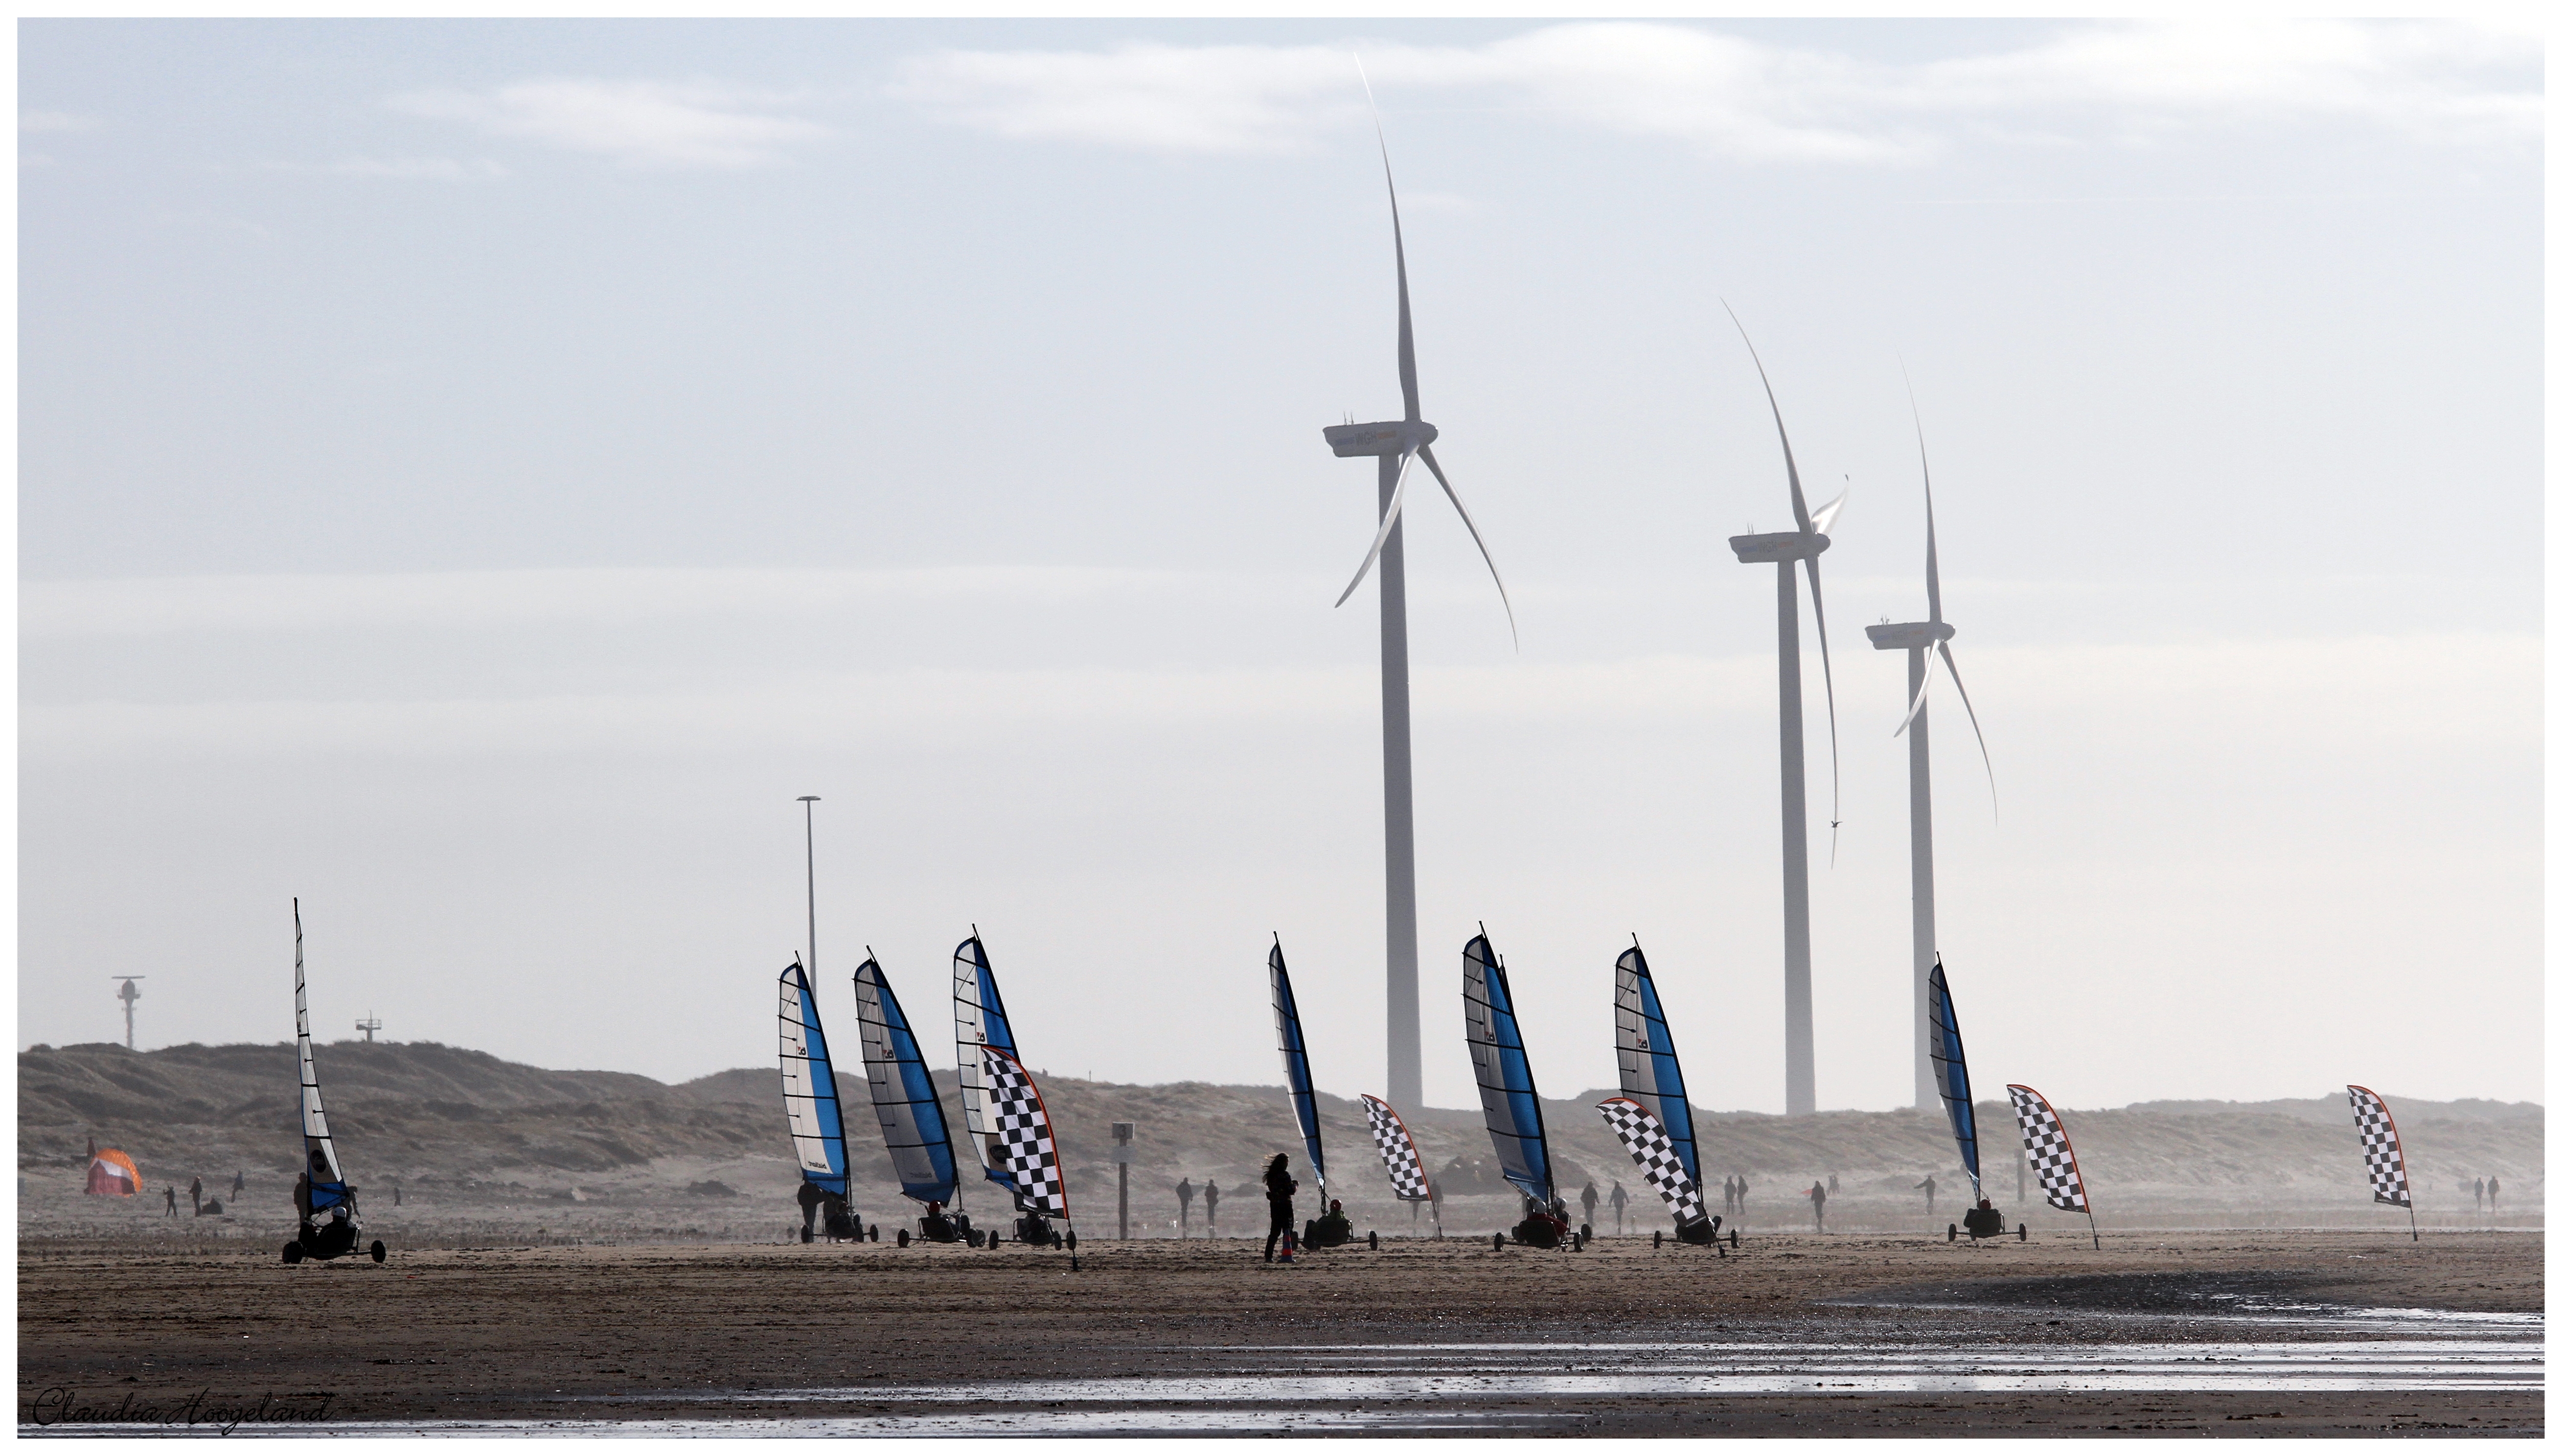
POLYGON ((1911 1100, 1904 661, 1978 1082, 2542 1100, 2542 41, 2444 23, 20 23, 18 1043, 699 1077, 976 925, 1035 1069, 1383 1092, 1396 164, 1424 1095, 1640 936, 1911 1100), (1358 64, 1355 64, 1358 56, 1358 64), (1811 620, 1809 620, 1811 628, 1811 620), (1939 700, 1934 700, 1939 702, 1939 700), (1996 813, 1998 784, 1998 813, 1996 813))

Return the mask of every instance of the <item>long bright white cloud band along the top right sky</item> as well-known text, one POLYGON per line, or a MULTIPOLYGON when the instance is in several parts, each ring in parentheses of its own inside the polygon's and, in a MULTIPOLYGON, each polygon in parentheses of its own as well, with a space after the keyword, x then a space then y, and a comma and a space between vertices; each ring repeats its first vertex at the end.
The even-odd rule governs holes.
POLYGON ((1914 161, 1957 131, 2139 141, 2178 128, 2362 120, 2431 141, 2542 136, 2534 36, 2452 23, 2111 23, 1914 64, 1701 26, 1545 26, 1483 46, 935 51, 892 97, 997 136, 1143 151, 1296 151, 1391 97, 1468 95, 1745 161, 1914 161))

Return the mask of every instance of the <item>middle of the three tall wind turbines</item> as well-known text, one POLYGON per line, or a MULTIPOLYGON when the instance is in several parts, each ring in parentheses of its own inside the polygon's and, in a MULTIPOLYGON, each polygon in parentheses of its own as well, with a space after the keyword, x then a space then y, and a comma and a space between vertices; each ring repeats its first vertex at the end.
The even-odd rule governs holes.
MULTIPOLYGON (((1734 310, 1727 308, 1727 318, 1734 310)), ((1734 318, 1734 333, 1745 333, 1745 320, 1734 318)), ((1778 564, 1778 854, 1781 854, 1781 920, 1786 941, 1783 989, 1788 1007, 1788 1115, 1814 1113, 1814 948, 1806 933, 1806 713, 1799 702, 1796 661, 1796 564, 1806 564, 1806 590, 1814 595, 1814 641, 1824 654, 1824 728, 1832 736, 1832 825, 1842 825, 1842 733, 1832 720, 1832 638, 1824 633, 1824 574, 1816 556, 1832 546, 1832 518, 1842 513, 1850 490, 1832 497, 1822 510, 1806 510, 1806 492, 1796 479, 1796 451, 1788 446, 1788 420, 1778 418, 1778 392, 1770 390, 1770 372, 1763 369, 1760 349, 1745 333, 1752 354, 1752 372, 1760 374, 1763 395, 1770 400, 1770 423, 1778 426, 1778 454, 1788 461, 1788 510, 1796 513, 1796 531, 1768 531, 1760 536, 1729 536, 1737 561, 1778 564)))

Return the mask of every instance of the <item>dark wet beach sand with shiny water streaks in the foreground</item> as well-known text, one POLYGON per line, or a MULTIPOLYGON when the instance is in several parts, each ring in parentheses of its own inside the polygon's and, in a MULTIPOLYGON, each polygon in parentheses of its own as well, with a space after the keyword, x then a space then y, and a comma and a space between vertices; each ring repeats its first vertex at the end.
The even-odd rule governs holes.
POLYGON ((1389 1241, 1296 1266, 1266 1266, 1245 1241, 1086 1241, 1076 1264, 1020 1246, 733 1243, 395 1248, 384 1266, 284 1266, 269 1248, 20 1241, 18 1415, 31 1430, 128 1397, 128 1418, 190 1397, 197 1412, 259 1397, 302 1400, 310 1412, 310 1392, 325 1392, 318 1410, 330 1423, 405 1423, 377 1430, 787 1420, 812 1433, 810 1423, 2516 1435, 2544 1425, 2542 1323, 2498 1320, 2542 1315, 2534 1233, 2421 1243, 2147 1233, 2098 1251, 2060 1233, 1980 1246, 1773 1236, 1724 1259, 1637 1238, 1583 1253, 1389 1241), (2462 1336, 2452 1346, 2449 1328, 2462 1336), (2467 1343, 2485 1330, 2493 1343, 2467 1343), (2367 1348, 2357 1359, 2383 1351, 2390 1359, 2375 1369, 2398 1374, 2367 1382, 2380 1389, 2319 1389, 2247 1364, 2280 1369, 2301 1351, 2357 1369, 2331 1353, 2352 1343, 2367 1348), (1663 1359, 1676 1346, 1678 1369, 1663 1359), (2093 1351, 2132 1346, 2160 1359, 2111 1379, 2073 1374, 2093 1351), (2206 1346, 2244 1364, 2188 1351, 2206 1346), (2447 1356, 2454 1346, 2470 1353, 2447 1356), (2529 1359, 2521 1351, 2531 1351, 2526 1379, 2465 1374, 2529 1359), (1747 1366, 1786 1379, 1745 1382, 1747 1366), (1881 1382, 1881 1369, 1906 1374, 1881 1382), (1465 1382, 1486 1371, 1501 1379, 1465 1382), (1857 1379, 1845 1374, 1827 1394, 1824 1371, 1857 1379), (2027 1384, 2003 1371, 2027 1371, 2027 1384))

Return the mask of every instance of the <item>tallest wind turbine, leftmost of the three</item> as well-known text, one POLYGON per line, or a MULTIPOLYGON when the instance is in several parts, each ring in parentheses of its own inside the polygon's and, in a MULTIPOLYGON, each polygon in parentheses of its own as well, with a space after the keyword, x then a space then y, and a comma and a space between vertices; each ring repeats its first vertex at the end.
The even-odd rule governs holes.
MULTIPOLYGON (((1368 90, 1368 77, 1363 77, 1368 90)), ((1337 456, 1378 456, 1378 536, 1371 554, 1360 559, 1353 582, 1335 597, 1340 608, 1378 564, 1378 751, 1383 761, 1386 818, 1389 818, 1389 1102, 1422 1107, 1424 1100, 1424 1041, 1422 1000, 1417 989, 1414 959, 1414 743, 1407 710, 1407 536, 1401 515, 1407 508, 1407 472, 1422 456, 1424 469, 1440 482, 1442 495, 1458 508, 1468 525, 1478 556, 1494 572, 1494 590, 1504 597, 1504 620, 1512 623, 1512 592, 1504 574, 1486 551, 1486 538, 1476 533, 1468 505, 1450 487, 1432 441, 1440 431, 1424 423, 1422 395, 1414 390, 1414 308, 1407 297, 1407 226, 1396 213, 1396 172, 1389 167, 1389 133, 1378 126, 1378 103, 1371 100, 1371 126, 1378 131, 1378 167, 1389 177, 1389 228, 1396 236, 1396 382, 1407 392, 1407 418, 1383 423, 1342 423, 1325 428, 1325 443, 1337 456)), ((1522 628, 1512 623, 1512 646, 1519 651, 1522 628)))

